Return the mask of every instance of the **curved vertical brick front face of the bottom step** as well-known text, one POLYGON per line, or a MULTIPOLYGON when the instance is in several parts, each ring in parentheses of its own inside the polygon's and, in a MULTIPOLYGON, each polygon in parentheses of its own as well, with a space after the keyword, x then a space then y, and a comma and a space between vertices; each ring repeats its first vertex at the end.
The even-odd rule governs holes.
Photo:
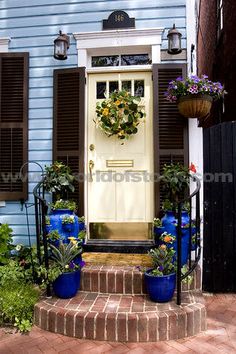
POLYGON ((155 342, 193 336, 206 329, 200 303, 175 311, 148 313, 75 312, 45 304, 35 306, 35 324, 70 337, 118 342, 155 342))

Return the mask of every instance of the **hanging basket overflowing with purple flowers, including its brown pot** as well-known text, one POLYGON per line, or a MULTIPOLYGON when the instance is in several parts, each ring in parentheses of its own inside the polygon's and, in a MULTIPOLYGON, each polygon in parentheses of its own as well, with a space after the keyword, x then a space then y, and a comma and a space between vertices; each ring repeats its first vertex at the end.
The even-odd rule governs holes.
POLYGON ((210 113, 212 102, 226 94, 220 82, 213 82, 208 76, 178 77, 170 81, 166 99, 177 102, 179 112, 186 118, 203 118, 210 113))

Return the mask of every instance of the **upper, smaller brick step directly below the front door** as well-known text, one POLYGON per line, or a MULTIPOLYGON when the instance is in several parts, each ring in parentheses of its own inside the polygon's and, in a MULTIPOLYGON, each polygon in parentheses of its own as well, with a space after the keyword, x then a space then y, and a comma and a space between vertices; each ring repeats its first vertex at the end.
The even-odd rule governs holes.
MULTIPOLYGON (((182 284, 182 291, 200 290, 201 270, 193 272, 192 282, 182 284)), ((146 294, 144 274, 137 267, 87 265, 81 272, 80 289, 110 294, 146 294)))

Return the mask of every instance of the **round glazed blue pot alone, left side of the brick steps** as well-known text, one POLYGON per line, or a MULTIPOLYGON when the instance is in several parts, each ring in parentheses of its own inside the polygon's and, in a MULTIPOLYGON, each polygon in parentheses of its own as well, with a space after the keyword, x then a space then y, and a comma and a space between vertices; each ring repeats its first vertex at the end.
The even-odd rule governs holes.
POLYGON ((68 272, 59 275, 59 277, 52 283, 52 287, 55 295, 61 299, 74 297, 78 290, 77 272, 68 272))

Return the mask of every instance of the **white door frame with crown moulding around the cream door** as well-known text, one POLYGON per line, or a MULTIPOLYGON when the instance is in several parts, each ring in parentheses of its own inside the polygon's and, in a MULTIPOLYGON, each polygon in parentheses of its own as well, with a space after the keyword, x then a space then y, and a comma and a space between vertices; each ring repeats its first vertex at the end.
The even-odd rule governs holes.
MULTIPOLYGON (((152 64, 161 63, 161 43, 164 28, 106 30, 98 32, 73 33, 78 53, 78 67, 85 67, 86 76, 89 73, 152 71, 152 64), (143 54, 148 52, 151 65, 91 67, 92 55, 109 55, 111 53, 143 54)), ((88 171, 88 86, 85 89, 85 122, 84 122, 84 170, 88 171)), ((155 203, 155 201, 154 201, 155 203)), ((84 183, 85 222, 88 221, 88 189, 84 183)), ((155 210, 156 212, 156 210, 155 210)))

